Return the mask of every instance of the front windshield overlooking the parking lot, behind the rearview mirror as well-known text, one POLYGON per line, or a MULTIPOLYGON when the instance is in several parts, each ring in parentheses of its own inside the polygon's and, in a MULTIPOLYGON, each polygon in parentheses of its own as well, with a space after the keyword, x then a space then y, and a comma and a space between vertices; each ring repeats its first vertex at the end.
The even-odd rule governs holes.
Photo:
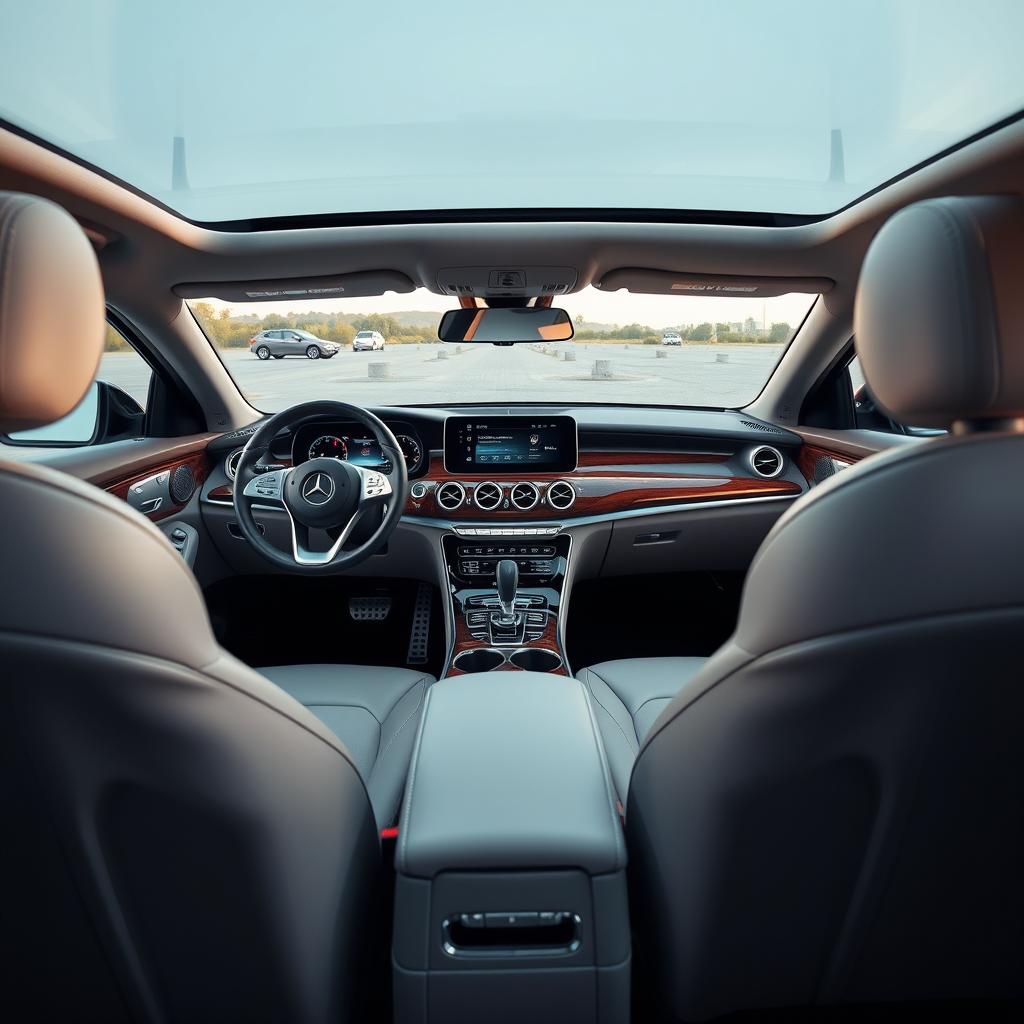
POLYGON ((275 413, 333 398, 362 406, 608 403, 738 408, 775 369, 814 301, 632 295, 585 289, 561 302, 568 342, 441 344, 452 300, 410 295, 188 305, 243 394, 275 413), (307 331, 337 351, 261 332, 307 331), (356 350, 356 338, 376 346, 356 350))

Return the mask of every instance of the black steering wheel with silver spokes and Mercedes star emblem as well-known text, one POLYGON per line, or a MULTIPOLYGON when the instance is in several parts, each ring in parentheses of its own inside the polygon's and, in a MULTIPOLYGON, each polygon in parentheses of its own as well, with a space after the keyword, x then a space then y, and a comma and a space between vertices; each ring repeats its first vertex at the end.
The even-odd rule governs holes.
POLYGON ((249 438, 234 471, 232 502, 245 539, 269 562, 305 573, 333 572, 358 565, 378 552, 394 531, 406 505, 409 472, 394 434, 373 413, 343 401, 307 401, 271 416, 249 438), (259 473, 256 466, 278 434, 310 419, 356 420, 377 439, 390 469, 365 469, 338 459, 310 459, 301 466, 259 473), (267 542, 256 525, 256 505, 282 508, 292 525, 288 554, 267 542), (343 551, 352 530, 385 509, 373 535, 343 551), (332 540, 327 551, 310 548, 309 531, 323 529, 332 540))

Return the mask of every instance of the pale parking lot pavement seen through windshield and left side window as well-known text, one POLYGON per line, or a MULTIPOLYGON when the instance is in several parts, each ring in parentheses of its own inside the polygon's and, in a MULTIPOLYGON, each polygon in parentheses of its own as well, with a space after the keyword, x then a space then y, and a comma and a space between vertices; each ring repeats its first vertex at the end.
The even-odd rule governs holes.
MULTIPOLYGON (((333 398, 355 404, 550 401, 667 406, 742 406, 760 392, 781 345, 389 345, 382 352, 342 349, 332 359, 261 361, 248 348, 220 355, 254 406, 278 412, 333 398), (574 352, 574 360, 564 353, 574 352), (658 355, 662 352, 662 355, 658 355), (596 360, 606 377, 595 377, 596 360), (386 377, 370 376, 384 364, 386 377)), ((144 401, 146 377, 132 353, 109 352, 99 376, 144 401)))

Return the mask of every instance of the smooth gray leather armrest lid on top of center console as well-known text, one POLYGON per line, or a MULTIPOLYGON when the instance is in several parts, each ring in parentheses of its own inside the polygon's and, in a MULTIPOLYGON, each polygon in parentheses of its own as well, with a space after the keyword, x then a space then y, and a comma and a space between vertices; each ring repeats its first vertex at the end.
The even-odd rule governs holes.
POLYGON ((626 848, 587 691, 537 672, 431 686, 395 858, 404 876, 620 870, 626 848))

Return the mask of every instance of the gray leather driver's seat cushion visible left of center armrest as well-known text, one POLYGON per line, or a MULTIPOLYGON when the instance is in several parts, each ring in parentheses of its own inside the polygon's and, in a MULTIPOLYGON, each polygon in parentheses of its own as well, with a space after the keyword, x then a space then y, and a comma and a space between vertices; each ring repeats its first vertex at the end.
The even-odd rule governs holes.
POLYGON ((377 823, 382 828, 393 824, 433 676, 361 665, 283 665, 259 671, 345 744, 367 783, 377 823))

